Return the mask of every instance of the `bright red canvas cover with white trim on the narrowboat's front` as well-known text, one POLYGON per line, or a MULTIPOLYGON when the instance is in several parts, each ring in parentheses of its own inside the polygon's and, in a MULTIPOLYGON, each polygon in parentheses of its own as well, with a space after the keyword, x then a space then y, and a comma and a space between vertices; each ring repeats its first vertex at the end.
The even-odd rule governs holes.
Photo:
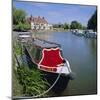
POLYGON ((56 68, 63 64, 63 58, 60 53, 60 48, 43 49, 42 59, 39 62, 40 67, 56 68))

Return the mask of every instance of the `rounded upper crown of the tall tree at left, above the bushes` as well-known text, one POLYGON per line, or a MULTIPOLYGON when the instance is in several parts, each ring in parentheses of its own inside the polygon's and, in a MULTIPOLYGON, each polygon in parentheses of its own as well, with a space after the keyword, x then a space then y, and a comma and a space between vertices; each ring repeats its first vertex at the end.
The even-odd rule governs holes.
POLYGON ((17 25, 20 22, 24 23, 25 22, 25 17, 26 17, 26 12, 21 9, 16 9, 13 7, 13 24, 17 25))

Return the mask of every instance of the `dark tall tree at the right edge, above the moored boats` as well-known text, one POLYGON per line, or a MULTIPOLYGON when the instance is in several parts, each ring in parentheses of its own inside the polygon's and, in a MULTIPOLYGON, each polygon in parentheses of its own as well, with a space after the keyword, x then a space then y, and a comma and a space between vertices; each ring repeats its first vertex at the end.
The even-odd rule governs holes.
POLYGON ((88 24, 87 24, 87 28, 93 29, 94 31, 97 31, 97 10, 94 12, 94 14, 89 19, 88 24))

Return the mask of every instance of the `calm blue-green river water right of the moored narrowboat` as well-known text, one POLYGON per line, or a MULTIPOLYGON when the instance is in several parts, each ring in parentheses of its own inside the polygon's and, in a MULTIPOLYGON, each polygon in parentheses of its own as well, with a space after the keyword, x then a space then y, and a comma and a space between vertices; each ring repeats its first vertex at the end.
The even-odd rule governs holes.
POLYGON ((71 32, 38 33, 36 37, 61 44, 63 56, 70 62, 75 79, 60 96, 96 94, 97 41, 71 32))

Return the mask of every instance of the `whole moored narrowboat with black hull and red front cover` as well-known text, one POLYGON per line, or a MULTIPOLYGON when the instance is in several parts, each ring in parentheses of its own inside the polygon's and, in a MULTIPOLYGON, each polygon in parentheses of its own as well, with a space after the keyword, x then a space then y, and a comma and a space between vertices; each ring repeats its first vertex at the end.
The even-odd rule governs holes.
MULTIPOLYGON (((24 35, 21 34, 20 38, 22 37, 24 35)), ((63 57, 61 45, 31 36, 29 39, 26 35, 23 39, 27 40, 23 47, 29 65, 35 64, 51 86, 60 76, 52 90, 56 93, 62 92, 69 80, 73 79, 73 74, 68 60, 63 57)))

